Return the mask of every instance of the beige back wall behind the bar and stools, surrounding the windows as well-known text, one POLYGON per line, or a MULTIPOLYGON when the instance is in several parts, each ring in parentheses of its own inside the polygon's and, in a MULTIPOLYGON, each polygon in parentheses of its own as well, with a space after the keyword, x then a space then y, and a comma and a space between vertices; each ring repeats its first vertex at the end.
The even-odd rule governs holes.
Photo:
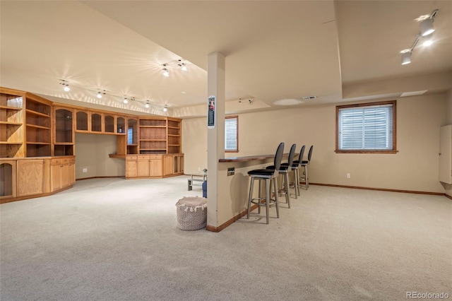
MULTIPOLYGON (((446 108, 444 94, 399 98, 396 154, 335 153, 335 105, 239 114, 239 153, 227 156, 271 154, 281 141, 286 152, 312 144, 311 182, 444 193, 438 148, 446 108)), ((197 173, 207 162, 206 119, 184 119, 182 128, 185 172, 197 173)))

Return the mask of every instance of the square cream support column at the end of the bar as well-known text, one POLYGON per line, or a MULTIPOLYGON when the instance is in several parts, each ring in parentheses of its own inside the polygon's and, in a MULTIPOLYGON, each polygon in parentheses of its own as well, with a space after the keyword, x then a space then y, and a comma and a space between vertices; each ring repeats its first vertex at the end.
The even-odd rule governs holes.
MULTIPOLYGON (((207 130, 207 225, 218 227, 218 201, 219 185, 218 183, 218 160, 225 157, 225 57, 213 52, 208 55, 208 98, 215 97, 215 125, 208 127, 207 130)), ((209 110, 208 100, 206 109, 209 110)), ((211 122, 209 119, 207 123, 211 122)), ((206 123, 206 126, 208 124, 206 123)))

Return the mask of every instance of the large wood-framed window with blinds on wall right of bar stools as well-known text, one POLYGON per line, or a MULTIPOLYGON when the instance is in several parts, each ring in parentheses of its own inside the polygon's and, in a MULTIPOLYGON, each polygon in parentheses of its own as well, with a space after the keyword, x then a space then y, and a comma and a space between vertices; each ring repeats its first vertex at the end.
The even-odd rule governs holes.
POLYGON ((336 107, 336 153, 396 153, 396 101, 336 107))

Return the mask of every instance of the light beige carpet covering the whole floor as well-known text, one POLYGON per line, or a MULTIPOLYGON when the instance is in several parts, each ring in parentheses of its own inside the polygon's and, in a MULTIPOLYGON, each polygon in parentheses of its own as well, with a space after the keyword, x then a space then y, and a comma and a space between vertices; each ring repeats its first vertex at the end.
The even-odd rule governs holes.
POLYGON ((186 179, 83 180, 2 204, 0 299, 452 297, 444 196, 311 185, 270 225, 264 209, 219 233, 187 232, 176 227, 175 203, 202 191, 187 191, 186 179))

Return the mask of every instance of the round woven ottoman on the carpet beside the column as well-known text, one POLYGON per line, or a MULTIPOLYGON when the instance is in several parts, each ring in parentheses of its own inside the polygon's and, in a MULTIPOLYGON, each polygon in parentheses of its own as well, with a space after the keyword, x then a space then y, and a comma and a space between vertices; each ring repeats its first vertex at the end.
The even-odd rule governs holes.
POLYGON ((192 231, 206 228, 207 199, 199 196, 185 196, 176 203, 177 228, 192 231))

